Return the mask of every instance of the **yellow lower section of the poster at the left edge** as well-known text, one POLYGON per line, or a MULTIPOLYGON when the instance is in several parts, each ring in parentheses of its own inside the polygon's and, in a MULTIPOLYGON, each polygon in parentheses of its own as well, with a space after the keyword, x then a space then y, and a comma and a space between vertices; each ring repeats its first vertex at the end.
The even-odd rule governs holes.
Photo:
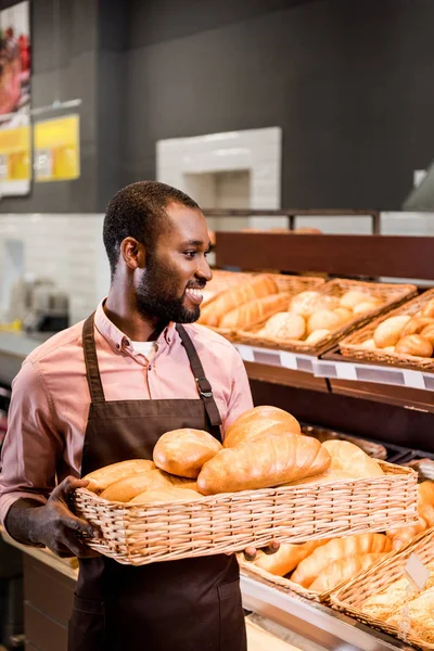
POLYGON ((30 127, 0 129, 0 180, 30 180, 30 127))

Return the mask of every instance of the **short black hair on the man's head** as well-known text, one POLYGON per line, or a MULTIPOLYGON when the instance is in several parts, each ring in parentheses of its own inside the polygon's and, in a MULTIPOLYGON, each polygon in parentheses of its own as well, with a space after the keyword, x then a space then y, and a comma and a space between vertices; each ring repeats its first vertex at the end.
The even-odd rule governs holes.
POLYGON ((181 190, 157 181, 131 183, 114 195, 107 206, 103 227, 112 280, 123 240, 135 238, 148 250, 153 250, 167 222, 166 206, 171 201, 189 208, 199 208, 196 202, 181 190))

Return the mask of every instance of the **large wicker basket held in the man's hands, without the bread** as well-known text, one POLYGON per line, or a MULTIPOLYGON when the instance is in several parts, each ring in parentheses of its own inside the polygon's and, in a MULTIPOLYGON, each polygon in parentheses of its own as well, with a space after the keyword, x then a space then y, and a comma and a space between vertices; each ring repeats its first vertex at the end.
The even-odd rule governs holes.
POLYGON ((412 524, 417 474, 380 461, 385 474, 370 480, 302 484, 220 494, 192 502, 155 506, 75 493, 75 510, 101 528, 92 549, 119 563, 143 565, 264 547, 272 538, 304 542, 412 524))

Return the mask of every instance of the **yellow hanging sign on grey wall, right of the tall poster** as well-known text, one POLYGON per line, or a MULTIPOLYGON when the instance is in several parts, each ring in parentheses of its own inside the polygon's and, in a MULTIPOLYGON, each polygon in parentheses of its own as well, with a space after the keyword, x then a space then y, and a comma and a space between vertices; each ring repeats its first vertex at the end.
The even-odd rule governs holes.
POLYGON ((35 180, 66 181, 80 176, 80 118, 68 115, 35 124, 35 180))

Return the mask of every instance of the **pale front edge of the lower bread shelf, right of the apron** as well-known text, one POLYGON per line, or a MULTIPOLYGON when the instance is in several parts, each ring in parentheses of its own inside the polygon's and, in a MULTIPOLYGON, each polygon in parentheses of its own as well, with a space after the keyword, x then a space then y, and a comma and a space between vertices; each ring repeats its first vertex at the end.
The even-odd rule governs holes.
POLYGON ((330 650, 393 651, 410 649, 331 609, 297 595, 273 589, 259 580, 241 577, 243 605, 330 650))

